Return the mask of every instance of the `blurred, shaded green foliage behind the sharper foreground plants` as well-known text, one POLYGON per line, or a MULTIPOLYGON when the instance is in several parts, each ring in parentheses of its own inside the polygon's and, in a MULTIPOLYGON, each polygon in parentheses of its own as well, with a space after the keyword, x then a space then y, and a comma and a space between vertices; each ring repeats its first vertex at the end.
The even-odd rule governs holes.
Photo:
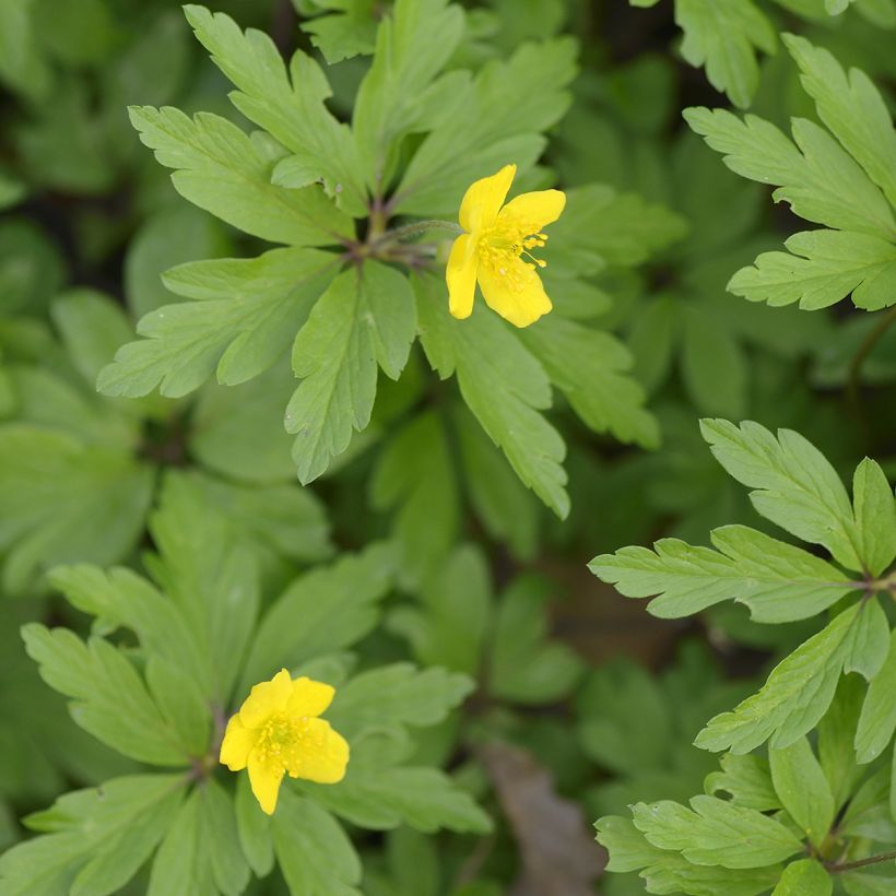
MULTIPOLYGON (((319 52, 320 44, 334 62, 330 105, 343 118, 390 7, 347 3, 343 16, 318 0, 210 5, 268 32, 285 55, 319 52), (362 55, 335 58, 333 30, 362 55)), ((282 429, 294 388, 284 365, 175 400, 97 396, 96 376, 132 338, 133 321, 177 300, 163 271, 263 248, 177 196, 125 107, 175 105, 246 122, 175 3, 0 0, 3 846, 25 836, 17 820, 26 813, 135 767, 72 723, 19 628, 40 621, 86 632, 89 620, 55 593, 46 570, 81 561, 140 567, 154 544, 151 508, 173 487, 165 483, 185 476, 238 521, 266 602, 308 567, 391 539, 398 581, 381 625, 357 648, 359 665, 414 660, 479 684, 417 750, 482 801, 495 830, 436 840, 409 827, 353 829, 365 893, 642 892, 632 875, 601 875, 588 822, 638 800, 698 792, 716 768, 691 746, 699 727, 821 625, 763 626, 733 604, 661 623, 597 582, 586 563, 661 535, 705 543, 720 524, 767 527, 706 450, 699 416, 798 429, 839 470, 869 455, 892 478, 896 327, 872 342, 877 323, 847 303, 810 314, 726 292, 735 270, 800 226, 684 125, 683 108, 726 97, 681 58, 673 3, 640 5, 649 9, 623 0, 467 3, 450 62, 476 70, 524 42, 573 35, 580 68, 571 103, 540 164, 564 188, 618 191, 598 216, 610 263, 589 279, 585 311, 570 317, 597 319, 626 343, 660 447, 596 434, 568 394, 555 398, 551 420, 567 440, 573 497, 561 522, 418 350, 399 381, 380 377, 370 426, 306 488, 282 429), (549 836, 555 825, 569 832, 559 845, 549 836)), ((887 4, 860 0, 836 19, 820 7, 756 4, 773 39, 757 40, 755 96, 732 93, 738 105, 785 129, 790 116, 813 115, 775 36, 787 30, 860 66, 893 108, 887 4)), ((275 877, 252 886, 284 892, 275 877)))

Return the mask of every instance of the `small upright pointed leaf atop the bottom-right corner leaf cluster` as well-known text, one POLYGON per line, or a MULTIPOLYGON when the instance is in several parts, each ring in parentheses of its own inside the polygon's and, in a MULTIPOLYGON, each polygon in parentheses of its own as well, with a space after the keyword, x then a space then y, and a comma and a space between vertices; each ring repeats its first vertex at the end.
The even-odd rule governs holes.
POLYGON ((775 791, 783 807, 816 848, 834 823, 834 794, 822 766, 805 738, 790 746, 769 748, 768 762, 775 791))

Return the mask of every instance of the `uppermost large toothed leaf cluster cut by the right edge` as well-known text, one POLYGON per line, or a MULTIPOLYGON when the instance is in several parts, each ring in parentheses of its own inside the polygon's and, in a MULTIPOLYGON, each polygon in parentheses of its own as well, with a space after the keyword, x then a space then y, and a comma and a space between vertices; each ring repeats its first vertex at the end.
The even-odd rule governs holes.
POLYGON ((794 234, 786 252, 765 252, 728 287, 769 305, 814 310, 846 295, 868 311, 893 304, 896 282, 896 135, 864 72, 849 74, 824 49, 785 35, 818 118, 792 120, 793 141, 773 123, 723 109, 686 109, 691 127, 743 177, 778 185, 774 198, 827 229, 794 234))

